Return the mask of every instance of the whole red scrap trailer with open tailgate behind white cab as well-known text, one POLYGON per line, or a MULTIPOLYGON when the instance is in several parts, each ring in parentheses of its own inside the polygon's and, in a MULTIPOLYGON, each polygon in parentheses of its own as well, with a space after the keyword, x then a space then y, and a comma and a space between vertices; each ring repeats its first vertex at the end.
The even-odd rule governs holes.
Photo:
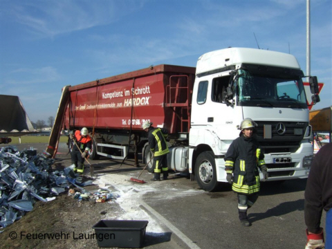
POLYGON ((162 64, 67 86, 47 151, 55 155, 60 129, 87 127, 93 134, 92 158, 124 158, 132 146, 144 154, 145 120, 168 129, 170 138, 187 139, 195 70, 162 64))

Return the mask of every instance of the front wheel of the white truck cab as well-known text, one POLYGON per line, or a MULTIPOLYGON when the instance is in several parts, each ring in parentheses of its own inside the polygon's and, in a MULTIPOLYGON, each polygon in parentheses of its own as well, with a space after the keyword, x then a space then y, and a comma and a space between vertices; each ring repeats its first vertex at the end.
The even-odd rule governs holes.
POLYGON ((216 163, 212 151, 204 151, 199 154, 195 163, 195 176, 199 186, 208 192, 212 192, 218 186, 216 181, 216 163))

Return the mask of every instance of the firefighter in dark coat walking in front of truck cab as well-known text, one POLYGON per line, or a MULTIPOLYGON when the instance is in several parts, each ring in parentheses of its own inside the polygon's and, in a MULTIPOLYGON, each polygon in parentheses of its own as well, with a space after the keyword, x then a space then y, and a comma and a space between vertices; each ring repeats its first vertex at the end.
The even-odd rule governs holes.
POLYGON ((261 153, 259 143, 253 137, 257 124, 250 118, 242 120, 239 129, 239 138, 235 139, 225 155, 225 171, 228 183, 232 184, 232 190, 237 193, 238 211, 241 224, 250 226, 247 210, 258 198, 260 187, 259 170, 263 174, 263 180, 268 178, 264 154, 261 153))

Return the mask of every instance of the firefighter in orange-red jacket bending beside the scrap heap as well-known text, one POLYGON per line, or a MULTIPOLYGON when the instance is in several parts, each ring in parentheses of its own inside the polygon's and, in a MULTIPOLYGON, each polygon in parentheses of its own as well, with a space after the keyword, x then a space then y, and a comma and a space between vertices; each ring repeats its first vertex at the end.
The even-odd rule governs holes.
POLYGON ((75 165, 74 172, 82 175, 84 172, 84 160, 89 155, 92 146, 91 136, 88 135, 88 129, 85 127, 81 131, 70 133, 69 137, 73 140, 73 147, 71 151, 71 163, 75 165), (77 146, 80 148, 77 148, 77 146), (82 153, 81 153, 82 151, 82 153))

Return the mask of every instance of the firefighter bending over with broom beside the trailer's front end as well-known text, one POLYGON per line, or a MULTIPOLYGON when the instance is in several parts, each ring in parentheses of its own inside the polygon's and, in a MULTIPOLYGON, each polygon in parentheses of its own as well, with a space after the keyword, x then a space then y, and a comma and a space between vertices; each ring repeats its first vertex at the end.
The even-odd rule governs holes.
POLYGON ((168 131, 163 128, 154 128, 152 124, 149 120, 142 124, 142 129, 148 133, 150 149, 154 154, 154 178, 151 181, 160 181, 161 172, 163 172, 163 180, 167 180, 167 154, 169 149, 165 138, 168 136, 168 131))

